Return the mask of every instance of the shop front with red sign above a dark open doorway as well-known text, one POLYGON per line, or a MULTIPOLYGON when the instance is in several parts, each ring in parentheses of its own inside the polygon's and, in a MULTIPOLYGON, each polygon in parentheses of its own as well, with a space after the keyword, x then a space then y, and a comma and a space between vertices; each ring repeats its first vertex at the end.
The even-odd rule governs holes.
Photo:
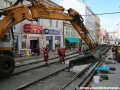
POLYGON ((38 49, 43 46, 42 26, 25 24, 24 32, 25 39, 22 39, 22 49, 30 49, 31 53, 39 54, 38 49))

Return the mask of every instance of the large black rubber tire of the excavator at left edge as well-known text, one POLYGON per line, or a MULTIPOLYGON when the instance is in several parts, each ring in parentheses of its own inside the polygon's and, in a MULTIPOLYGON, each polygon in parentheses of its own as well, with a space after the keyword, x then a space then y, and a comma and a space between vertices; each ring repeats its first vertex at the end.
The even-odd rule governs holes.
POLYGON ((9 76, 13 73, 15 68, 15 61, 11 56, 2 55, 0 56, 0 78, 9 76), (9 63, 9 69, 4 69, 3 66, 5 63, 9 63))

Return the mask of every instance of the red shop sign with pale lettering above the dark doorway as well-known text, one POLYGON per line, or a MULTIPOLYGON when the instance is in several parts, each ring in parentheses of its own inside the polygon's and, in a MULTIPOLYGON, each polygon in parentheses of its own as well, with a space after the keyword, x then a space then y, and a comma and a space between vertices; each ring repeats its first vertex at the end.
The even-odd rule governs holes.
POLYGON ((33 25, 33 24, 25 24, 24 25, 24 32, 25 33, 32 33, 32 34, 42 34, 42 26, 33 25))

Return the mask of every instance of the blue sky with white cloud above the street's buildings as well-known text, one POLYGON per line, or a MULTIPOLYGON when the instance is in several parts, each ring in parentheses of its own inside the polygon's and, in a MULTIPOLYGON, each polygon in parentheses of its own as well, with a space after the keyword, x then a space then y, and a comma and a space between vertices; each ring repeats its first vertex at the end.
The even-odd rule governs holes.
MULTIPOLYGON (((52 0, 59 4, 62 0, 52 0)), ((78 0, 82 2, 82 0, 78 0)), ((84 0, 88 7, 100 18, 101 28, 105 28, 107 32, 118 30, 118 22, 120 22, 120 0, 84 0), (114 14, 105 14, 114 13, 114 14)), ((69 0, 68 0, 69 2, 69 0)))

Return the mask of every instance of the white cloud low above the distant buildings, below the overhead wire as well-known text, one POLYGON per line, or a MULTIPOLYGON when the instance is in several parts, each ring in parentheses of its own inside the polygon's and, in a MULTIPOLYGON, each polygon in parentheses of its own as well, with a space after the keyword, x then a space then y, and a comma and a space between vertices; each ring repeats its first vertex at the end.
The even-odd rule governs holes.
POLYGON ((120 17, 100 17, 101 28, 105 28, 107 32, 114 32, 118 29, 118 22, 120 22, 120 17))

